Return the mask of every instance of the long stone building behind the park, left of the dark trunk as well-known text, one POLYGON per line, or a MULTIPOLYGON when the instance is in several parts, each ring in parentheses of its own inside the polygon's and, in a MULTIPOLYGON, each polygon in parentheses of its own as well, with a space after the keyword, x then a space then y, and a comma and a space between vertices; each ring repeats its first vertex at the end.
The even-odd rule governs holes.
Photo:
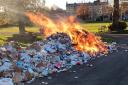
POLYGON ((112 7, 108 3, 108 0, 105 2, 101 2, 100 0, 94 1, 93 3, 67 3, 66 4, 66 11, 71 15, 76 15, 76 10, 79 8, 81 4, 88 6, 89 17, 90 21, 109 21, 112 15, 112 7))

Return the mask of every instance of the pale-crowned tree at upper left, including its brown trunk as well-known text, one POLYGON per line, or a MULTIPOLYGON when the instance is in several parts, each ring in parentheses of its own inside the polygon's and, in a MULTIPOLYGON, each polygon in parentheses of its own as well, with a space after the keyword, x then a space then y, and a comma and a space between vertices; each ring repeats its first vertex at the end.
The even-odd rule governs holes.
POLYGON ((6 13, 11 19, 19 22, 19 32, 25 33, 25 12, 37 12, 44 5, 41 0, 0 0, 6 8, 6 13))

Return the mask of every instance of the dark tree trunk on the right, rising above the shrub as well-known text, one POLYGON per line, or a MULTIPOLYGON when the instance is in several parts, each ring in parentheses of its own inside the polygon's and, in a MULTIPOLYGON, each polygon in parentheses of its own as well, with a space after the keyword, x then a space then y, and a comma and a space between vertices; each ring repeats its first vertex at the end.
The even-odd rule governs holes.
POLYGON ((113 11, 113 25, 117 25, 119 22, 119 0, 114 0, 114 11, 113 11))

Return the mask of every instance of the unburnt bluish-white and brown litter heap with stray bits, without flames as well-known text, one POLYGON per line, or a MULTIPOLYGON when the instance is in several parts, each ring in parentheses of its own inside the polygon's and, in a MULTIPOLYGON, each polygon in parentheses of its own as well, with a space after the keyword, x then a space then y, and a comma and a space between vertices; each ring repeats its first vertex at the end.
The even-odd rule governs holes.
MULTIPOLYGON (((115 43, 109 45, 109 50, 110 52, 115 50, 115 43)), ((17 42, 9 42, 0 47, 0 72, 3 73, 0 85, 13 85, 12 80, 14 83, 22 81, 31 83, 36 77, 67 71, 74 65, 87 63, 89 59, 91 57, 88 53, 74 48, 66 33, 53 34, 26 48, 22 48, 17 42), (11 79, 7 79, 8 76, 11 79), (8 81, 10 84, 4 81, 8 81)), ((48 79, 52 79, 52 77, 48 77, 48 79)), ((48 82, 44 84, 48 84, 48 82)))

